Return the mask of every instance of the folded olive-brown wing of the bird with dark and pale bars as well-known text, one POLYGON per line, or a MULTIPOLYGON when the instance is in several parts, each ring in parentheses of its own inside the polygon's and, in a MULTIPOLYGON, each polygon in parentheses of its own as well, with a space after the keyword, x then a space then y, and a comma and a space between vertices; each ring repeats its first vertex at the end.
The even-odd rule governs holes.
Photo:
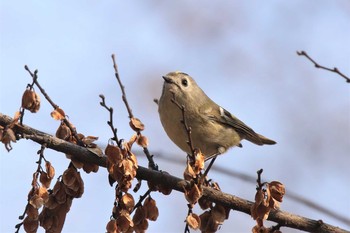
POLYGON ((253 140, 254 143, 262 145, 259 135, 254 132, 249 126, 244 124, 237 117, 233 116, 229 111, 222 107, 202 109, 203 113, 208 116, 210 120, 216 121, 220 124, 232 127, 242 137, 242 139, 253 140))

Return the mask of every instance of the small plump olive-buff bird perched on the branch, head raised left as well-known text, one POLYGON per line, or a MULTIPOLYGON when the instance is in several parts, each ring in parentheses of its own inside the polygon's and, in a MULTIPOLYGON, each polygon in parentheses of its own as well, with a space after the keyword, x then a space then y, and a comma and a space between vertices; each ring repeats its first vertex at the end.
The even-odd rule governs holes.
POLYGON ((170 72, 163 79, 163 91, 158 102, 160 121, 169 138, 186 153, 192 153, 187 143, 188 133, 182 123, 182 112, 172 99, 184 106, 193 146, 201 150, 206 160, 225 153, 231 147, 242 147, 243 139, 256 145, 276 144, 217 105, 188 74, 170 72))

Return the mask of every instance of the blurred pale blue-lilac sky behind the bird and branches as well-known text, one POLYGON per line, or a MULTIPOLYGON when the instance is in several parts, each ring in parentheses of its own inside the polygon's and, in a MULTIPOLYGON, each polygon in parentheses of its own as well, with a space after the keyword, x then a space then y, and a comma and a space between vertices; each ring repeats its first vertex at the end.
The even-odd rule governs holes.
MULTIPOLYGON (((108 113, 99 105, 98 95, 104 94, 115 109, 119 137, 129 139, 132 131, 110 58, 115 53, 133 113, 146 125, 149 150, 160 169, 181 177, 185 154, 167 138, 153 102, 161 94, 161 76, 181 70, 214 101, 278 142, 259 147, 244 141, 242 149, 217 159, 217 168, 251 176, 263 168, 264 180, 281 181, 287 193, 334 211, 348 224, 288 197, 283 210, 350 229, 350 86, 296 54, 305 50, 320 64, 349 76, 349 41, 347 0, 1 0, 0 112, 13 116, 19 109, 31 81, 26 64, 39 70, 40 84, 79 132, 99 136, 102 146, 112 136, 108 113)), ((26 113, 24 123, 55 133, 59 122, 51 111, 42 97, 40 111, 26 113)), ((19 223, 40 149, 25 140, 13 147, 10 153, 0 148, 1 232, 13 232, 19 223)), ((45 157, 57 176, 69 164, 55 151, 46 150, 45 157)), ((142 156, 139 163, 147 166, 142 156)), ((254 199, 254 183, 215 171, 210 176, 224 192, 254 199)), ((82 172, 82 177, 85 193, 74 200, 64 232, 103 232, 114 189, 105 169, 82 172)), ((160 216, 150 222, 149 232, 182 232, 187 214, 183 194, 152 197, 160 216)), ((249 215, 231 211, 220 232, 248 232, 253 226, 249 215)))

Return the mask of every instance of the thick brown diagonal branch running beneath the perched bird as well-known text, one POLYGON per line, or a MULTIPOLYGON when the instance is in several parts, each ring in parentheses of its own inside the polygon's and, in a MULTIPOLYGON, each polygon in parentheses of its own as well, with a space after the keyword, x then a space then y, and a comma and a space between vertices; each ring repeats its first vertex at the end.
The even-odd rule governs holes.
MULTIPOLYGON (((12 122, 12 118, 0 113, 0 125, 6 126, 12 122)), ((14 127, 16 134, 23 135, 24 138, 35 141, 39 144, 46 144, 47 148, 74 155, 77 159, 94 163, 96 165, 106 167, 106 157, 98 157, 93 152, 85 147, 58 139, 52 135, 46 134, 39 130, 33 129, 26 125, 16 124, 14 127)), ((137 170, 137 179, 151 181, 155 184, 163 184, 179 192, 184 192, 184 187, 187 187, 189 182, 178 177, 169 175, 164 172, 154 171, 145 167, 139 166, 137 170)), ((253 202, 242 199, 240 197, 223 193, 210 187, 203 187, 203 195, 210 201, 219 203, 232 210, 240 211, 250 215, 250 209, 253 202)), ((308 232, 336 232, 346 233, 344 229, 324 223, 322 220, 313 220, 306 217, 291 214, 282 210, 272 210, 268 220, 278 223, 281 227, 290 227, 308 232)))

